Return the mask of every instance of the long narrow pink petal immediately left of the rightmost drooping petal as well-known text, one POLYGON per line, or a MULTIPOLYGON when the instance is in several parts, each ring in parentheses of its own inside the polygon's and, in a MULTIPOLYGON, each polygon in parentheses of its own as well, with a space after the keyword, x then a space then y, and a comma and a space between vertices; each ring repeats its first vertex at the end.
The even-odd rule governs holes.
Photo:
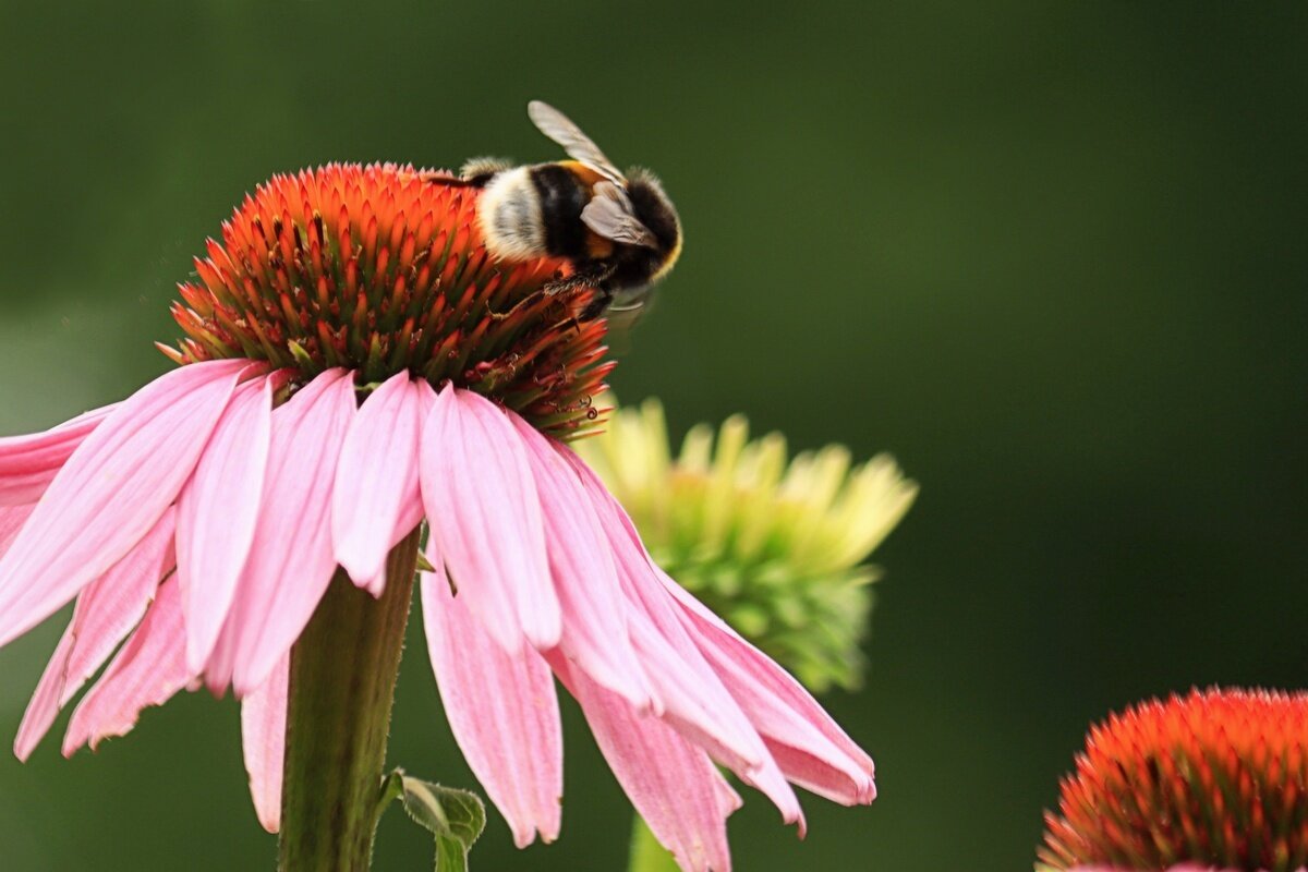
POLYGON ((557 450, 587 484, 582 498, 593 502, 604 529, 604 549, 613 554, 623 591, 630 601, 636 648, 666 705, 663 720, 742 780, 763 791, 782 820, 798 824, 803 838, 807 825, 798 797, 764 740, 681 624, 676 601, 662 588, 649 556, 630 532, 627 512, 574 452, 562 446, 557 450))

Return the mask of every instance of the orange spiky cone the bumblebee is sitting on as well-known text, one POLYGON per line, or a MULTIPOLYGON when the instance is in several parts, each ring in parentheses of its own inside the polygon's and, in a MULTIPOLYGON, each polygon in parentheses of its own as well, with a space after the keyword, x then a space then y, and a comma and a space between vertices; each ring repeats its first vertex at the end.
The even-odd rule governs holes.
POLYGON ((173 315, 178 363, 246 358, 305 382, 341 366, 362 383, 402 370, 489 396, 568 438, 599 417, 603 322, 590 292, 543 290, 561 260, 493 261, 476 191, 408 166, 341 165, 276 175, 198 258, 173 315))

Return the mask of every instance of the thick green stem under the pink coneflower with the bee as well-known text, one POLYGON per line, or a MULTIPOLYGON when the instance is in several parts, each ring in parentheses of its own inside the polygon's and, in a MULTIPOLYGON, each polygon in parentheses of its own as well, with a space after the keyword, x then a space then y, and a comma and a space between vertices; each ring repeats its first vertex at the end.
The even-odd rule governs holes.
POLYGON ((292 650, 281 872, 371 864, 419 539, 415 529, 391 550, 381 599, 337 570, 292 650))

